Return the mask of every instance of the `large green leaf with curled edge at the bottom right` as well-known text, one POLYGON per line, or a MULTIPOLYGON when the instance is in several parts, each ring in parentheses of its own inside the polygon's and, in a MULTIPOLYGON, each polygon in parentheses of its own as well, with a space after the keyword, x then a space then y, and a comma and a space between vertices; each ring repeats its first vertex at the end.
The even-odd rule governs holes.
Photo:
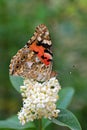
POLYGON ((82 130, 77 118, 66 109, 60 109, 58 118, 52 119, 52 122, 60 126, 67 126, 71 130, 82 130))

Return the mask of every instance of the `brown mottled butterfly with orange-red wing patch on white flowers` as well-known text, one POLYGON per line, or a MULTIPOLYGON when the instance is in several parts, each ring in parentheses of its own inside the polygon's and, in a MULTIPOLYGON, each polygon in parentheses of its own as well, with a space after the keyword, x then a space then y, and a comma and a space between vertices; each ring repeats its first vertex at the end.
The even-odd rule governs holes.
POLYGON ((22 76, 37 81, 46 81, 52 75, 52 42, 44 24, 36 27, 27 44, 11 59, 10 75, 22 76))

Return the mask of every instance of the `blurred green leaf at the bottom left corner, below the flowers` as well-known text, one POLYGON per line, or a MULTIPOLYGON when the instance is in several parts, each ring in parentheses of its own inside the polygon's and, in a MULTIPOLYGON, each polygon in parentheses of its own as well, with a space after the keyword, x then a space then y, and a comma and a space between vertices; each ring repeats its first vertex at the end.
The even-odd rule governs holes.
POLYGON ((25 129, 25 128, 35 128, 33 122, 26 123, 26 125, 21 125, 17 116, 13 116, 7 120, 0 121, 0 128, 11 128, 11 129, 25 129))

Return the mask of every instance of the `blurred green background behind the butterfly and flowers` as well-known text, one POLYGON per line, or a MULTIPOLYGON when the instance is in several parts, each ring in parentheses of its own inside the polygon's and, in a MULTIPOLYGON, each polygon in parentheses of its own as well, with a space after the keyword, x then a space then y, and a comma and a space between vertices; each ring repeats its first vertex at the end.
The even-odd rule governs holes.
POLYGON ((69 110, 87 130, 87 0, 0 0, 0 119, 20 110, 9 63, 41 23, 50 31, 61 86, 75 89, 69 110))

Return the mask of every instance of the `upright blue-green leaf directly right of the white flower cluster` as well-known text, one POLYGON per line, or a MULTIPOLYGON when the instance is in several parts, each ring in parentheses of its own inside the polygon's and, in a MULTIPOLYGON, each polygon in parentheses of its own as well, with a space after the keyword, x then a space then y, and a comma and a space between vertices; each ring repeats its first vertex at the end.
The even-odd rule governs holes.
POLYGON ((62 88, 59 92, 59 100, 57 101, 57 107, 67 108, 74 95, 74 89, 71 87, 62 88))

